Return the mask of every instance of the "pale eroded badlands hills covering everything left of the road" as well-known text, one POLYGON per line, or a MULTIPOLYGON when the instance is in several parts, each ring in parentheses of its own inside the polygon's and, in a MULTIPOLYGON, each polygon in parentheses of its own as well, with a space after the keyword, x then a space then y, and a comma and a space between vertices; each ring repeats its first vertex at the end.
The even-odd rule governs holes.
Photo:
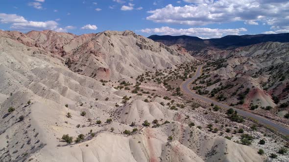
MULTIPOLYGON (((176 71, 185 62, 198 63, 180 46, 168 47, 131 31, 81 36, 0 31, 0 161, 266 159, 257 154, 259 146, 201 129, 208 122, 187 114, 192 113, 190 106, 170 109, 173 101, 161 96, 168 93, 163 84, 135 81, 143 73, 176 71)), ((180 97, 171 98, 188 105, 180 97)), ((248 129, 239 123, 226 125, 248 129)), ((257 139, 271 137, 255 134, 257 139)), ((277 149, 281 140, 276 139, 266 141, 274 146, 268 149, 277 149)))

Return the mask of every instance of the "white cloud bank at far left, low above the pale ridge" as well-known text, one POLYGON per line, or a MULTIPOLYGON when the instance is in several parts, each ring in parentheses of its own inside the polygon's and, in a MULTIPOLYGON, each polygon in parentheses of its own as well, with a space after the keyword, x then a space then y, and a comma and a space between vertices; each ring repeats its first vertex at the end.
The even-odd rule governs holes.
POLYGON ((10 23, 11 29, 27 31, 27 30, 68 30, 72 29, 72 26, 64 28, 58 27, 58 23, 53 20, 48 21, 28 21, 23 16, 16 14, 0 13, 0 23, 10 23))

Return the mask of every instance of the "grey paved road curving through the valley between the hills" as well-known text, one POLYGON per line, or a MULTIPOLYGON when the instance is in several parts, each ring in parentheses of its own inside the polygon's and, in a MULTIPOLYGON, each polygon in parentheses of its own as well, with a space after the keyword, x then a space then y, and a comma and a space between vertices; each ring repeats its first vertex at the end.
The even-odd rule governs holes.
POLYGON ((201 75, 201 70, 202 70, 202 66, 199 65, 197 67, 197 70, 196 70, 196 74, 193 76, 193 78, 190 78, 189 80, 185 81, 183 84, 182 84, 182 89, 184 92, 186 92, 187 94, 190 94, 191 96, 193 96, 194 98, 196 99, 199 99, 201 101, 206 101, 206 102, 209 102, 209 103, 214 103, 215 105, 218 105, 222 108, 226 108, 226 109, 234 109, 234 110, 237 110, 238 114, 246 117, 246 118, 251 118, 251 119, 254 119, 255 121, 258 121, 259 123, 263 124, 263 125, 266 125, 270 128, 273 128, 274 130, 280 132, 281 134, 285 135, 285 136, 289 136, 289 128, 286 127, 286 126, 283 126, 281 124, 278 124, 274 121, 270 121, 269 119, 266 119, 264 117, 261 117, 259 115, 256 115, 256 114, 253 114, 253 113, 250 113, 250 112, 247 112, 247 111, 244 111, 244 110, 241 110, 241 109, 237 109, 235 107, 232 107, 232 106, 228 106, 228 105, 225 105, 223 103, 219 103, 215 100, 211 100, 211 99, 208 99, 204 96, 201 96, 201 95, 198 95, 198 94, 195 94, 193 93, 190 88, 189 88, 189 84, 194 81, 195 79, 197 79, 200 75, 201 75))

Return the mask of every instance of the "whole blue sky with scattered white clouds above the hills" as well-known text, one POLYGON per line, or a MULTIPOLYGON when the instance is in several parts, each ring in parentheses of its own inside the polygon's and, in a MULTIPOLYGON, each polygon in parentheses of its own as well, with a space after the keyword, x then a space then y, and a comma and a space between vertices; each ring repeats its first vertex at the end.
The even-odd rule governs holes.
POLYGON ((0 0, 0 29, 143 36, 289 32, 289 0, 0 0))

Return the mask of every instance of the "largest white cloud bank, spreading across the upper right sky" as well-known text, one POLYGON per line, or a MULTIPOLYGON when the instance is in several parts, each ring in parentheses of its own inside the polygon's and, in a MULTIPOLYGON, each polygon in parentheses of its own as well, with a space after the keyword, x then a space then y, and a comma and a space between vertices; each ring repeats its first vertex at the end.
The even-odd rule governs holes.
POLYGON ((184 0, 189 5, 173 6, 148 11, 147 20, 160 23, 206 25, 243 21, 257 25, 288 26, 288 0, 184 0))

